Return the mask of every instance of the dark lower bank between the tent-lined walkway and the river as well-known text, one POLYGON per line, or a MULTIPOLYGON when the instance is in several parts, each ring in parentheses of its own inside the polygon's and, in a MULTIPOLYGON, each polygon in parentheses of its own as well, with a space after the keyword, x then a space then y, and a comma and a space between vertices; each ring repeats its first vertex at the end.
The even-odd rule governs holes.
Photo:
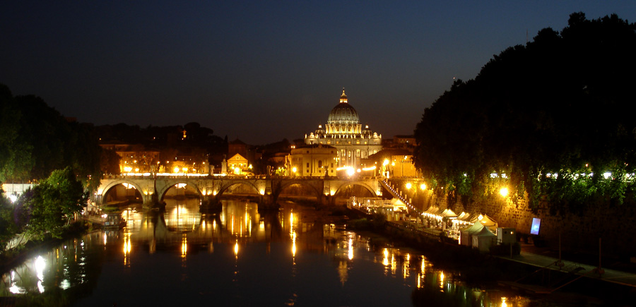
POLYGON ((555 299, 563 299, 563 295, 572 298, 573 296, 567 293, 576 293, 582 305, 595 301, 590 297, 610 303, 610 306, 625 306, 625 302, 636 301, 636 289, 628 285, 590 277, 581 278, 565 270, 542 270, 541 267, 507 259, 506 256, 479 253, 476 248, 459 246, 457 241, 444 241, 444 238, 414 231, 404 225, 384 222, 381 227, 370 230, 386 236, 396 247, 416 249, 435 267, 461 272, 461 279, 479 287, 495 287, 495 284, 502 281, 510 281, 513 284, 519 282, 528 286, 513 287, 512 291, 536 295, 529 289, 554 290, 541 295, 554 294, 555 299))

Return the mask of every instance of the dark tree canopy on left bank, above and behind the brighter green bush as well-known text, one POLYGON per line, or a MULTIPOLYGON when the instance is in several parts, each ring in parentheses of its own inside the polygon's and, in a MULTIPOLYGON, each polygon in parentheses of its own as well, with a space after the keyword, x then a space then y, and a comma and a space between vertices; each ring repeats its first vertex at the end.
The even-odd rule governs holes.
POLYGON ((46 178, 73 167, 88 188, 102 176, 101 148, 92 126, 67 121, 40 97, 12 97, 0 84, 0 181, 46 178))

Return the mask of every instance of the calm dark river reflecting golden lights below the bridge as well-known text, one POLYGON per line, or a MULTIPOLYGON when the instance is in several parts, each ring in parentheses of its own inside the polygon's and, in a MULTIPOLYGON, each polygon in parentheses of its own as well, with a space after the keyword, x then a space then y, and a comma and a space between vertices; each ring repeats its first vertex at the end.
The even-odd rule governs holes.
MULTIPOLYGON (((127 227, 96 231, 35 255, 1 277, 0 296, 42 306, 546 306, 466 287, 422 255, 374 248, 293 203, 259 215, 228 200, 167 200, 165 214, 126 210, 127 227)), ((550 304, 551 305, 551 304, 550 304)))

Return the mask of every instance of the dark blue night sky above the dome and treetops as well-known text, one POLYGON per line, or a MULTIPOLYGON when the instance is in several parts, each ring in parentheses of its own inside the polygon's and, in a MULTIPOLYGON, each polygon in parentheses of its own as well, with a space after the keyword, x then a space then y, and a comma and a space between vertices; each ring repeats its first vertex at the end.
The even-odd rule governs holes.
POLYGON ((0 83, 81 122, 196 121, 254 145, 326 124, 346 88, 392 138, 453 78, 578 11, 636 21, 635 1, 11 1, 0 83))

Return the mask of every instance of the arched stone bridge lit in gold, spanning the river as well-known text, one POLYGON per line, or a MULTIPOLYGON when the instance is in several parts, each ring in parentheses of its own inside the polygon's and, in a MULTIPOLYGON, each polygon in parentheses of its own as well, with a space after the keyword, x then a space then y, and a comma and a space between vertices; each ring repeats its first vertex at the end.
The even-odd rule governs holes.
POLYGON ((285 188, 298 184, 310 189, 319 203, 334 203, 334 195, 348 186, 361 186, 373 195, 382 195, 382 186, 373 177, 340 179, 336 177, 325 178, 272 178, 272 177, 192 177, 192 176, 109 176, 102 179, 93 200, 101 204, 106 193, 114 186, 126 183, 134 186, 141 193, 143 203, 151 203, 153 195, 156 200, 163 200, 165 193, 177 184, 182 183, 194 189, 201 200, 217 200, 232 186, 247 186, 259 196, 259 203, 273 204, 278 200, 278 195, 285 188))

